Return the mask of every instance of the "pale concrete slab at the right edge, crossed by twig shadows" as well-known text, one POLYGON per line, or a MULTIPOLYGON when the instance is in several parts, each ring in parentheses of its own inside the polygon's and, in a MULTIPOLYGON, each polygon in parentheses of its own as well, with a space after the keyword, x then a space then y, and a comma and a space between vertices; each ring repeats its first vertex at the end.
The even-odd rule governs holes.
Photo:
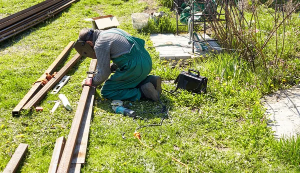
POLYGON ((275 138, 290 137, 300 132, 300 85, 266 96, 268 125, 275 138))

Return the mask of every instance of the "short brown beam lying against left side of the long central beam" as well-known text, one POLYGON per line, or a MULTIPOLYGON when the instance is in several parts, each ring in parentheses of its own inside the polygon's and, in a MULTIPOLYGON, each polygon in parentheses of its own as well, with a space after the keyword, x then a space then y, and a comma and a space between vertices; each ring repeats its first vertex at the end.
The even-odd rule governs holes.
POLYGON ((54 146, 50 166, 48 169, 48 173, 56 172, 60 158, 61 158, 62 151, 64 149, 64 145, 65 145, 65 138, 63 136, 58 137, 55 142, 55 146, 54 146))

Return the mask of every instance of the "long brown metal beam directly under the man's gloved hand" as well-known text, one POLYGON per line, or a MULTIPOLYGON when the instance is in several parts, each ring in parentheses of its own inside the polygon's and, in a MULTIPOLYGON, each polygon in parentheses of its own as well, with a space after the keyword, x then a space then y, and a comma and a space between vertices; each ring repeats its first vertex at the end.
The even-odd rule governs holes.
MULTIPOLYGON (((91 60, 89 71, 95 71, 96 64, 97 64, 96 60, 91 60)), ((57 169, 58 173, 62 173, 62 172, 67 173, 69 171, 70 164, 72 161, 72 155, 73 155, 73 152, 75 149, 75 145, 76 145, 76 141, 77 141, 77 137, 78 137, 78 133, 79 133, 79 129, 80 129, 80 124, 82 121, 82 117, 83 117, 83 113, 84 113, 84 109, 85 109, 85 105, 86 105, 86 101, 88 98, 88 93, 89 93, 90 88, 91 88, 90 86, 83 86, 83 88, 82 88, 82 93, 81 93, 80 99, 78 101, 78 106, 77 106, 77 109, 76 109, 76 112, 74 115, 74 119, 73 119, 73 122, 72 122, 72 125, 70 128, 70 132, 68 134, 68 137, 67 137, 67 140, 65 143, 65 149, 63 150, 61 160, 58 165, 58 169, 57 169)))

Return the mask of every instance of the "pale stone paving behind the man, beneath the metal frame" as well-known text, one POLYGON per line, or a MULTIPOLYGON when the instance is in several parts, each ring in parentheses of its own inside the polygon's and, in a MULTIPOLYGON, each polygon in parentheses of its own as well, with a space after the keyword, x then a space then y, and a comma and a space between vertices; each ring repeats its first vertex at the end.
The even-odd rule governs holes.
MULTIPOLYGON (((210 38, 209 36, 205 35, 205 40, 207 39, 210 38)), ((150 40, 153 42, 153 46, 162 45, 166 42, 172 42, 174 45, 180 44, 184 46, 184 47, 180 47, 180 46, 155 47, 155 50, 159 52, 159 58, 161 60, 163 59, 179 60, 179 59, 188 59, 194 57, 206 57, 207 54, 211 53, 209 49, 206 51, 200 51, 198 49, 194 49, 194 53, 192 53, 192 48, 191 48, 192 44, 188 44, 189 39, 187 34, 179 35, 179 36, 174 34, 152 34, 150 35, 150 40)), ((217 45, 214 41, 208 41, 208 44, 211 47, 215 47, 217 51, 221 50, 219 45, 217 45)))

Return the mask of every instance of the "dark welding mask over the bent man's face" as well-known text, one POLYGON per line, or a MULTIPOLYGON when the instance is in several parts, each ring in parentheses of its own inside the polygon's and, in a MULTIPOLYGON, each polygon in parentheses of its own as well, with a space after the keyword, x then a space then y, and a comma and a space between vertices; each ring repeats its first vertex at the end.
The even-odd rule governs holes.
MULTIPOLYGON (((93 30, 89 29, 85 40, 88 40, 92 33, 93 33, 93 30)), ((87 44, 86 41, 82 41, 78 38, 78 40, 73 45, 73 47, 78 52, 78 54, 80 54, 81 56, 96 59, 96 54, 95 54, 93 48, 89 44, 87 44)))

